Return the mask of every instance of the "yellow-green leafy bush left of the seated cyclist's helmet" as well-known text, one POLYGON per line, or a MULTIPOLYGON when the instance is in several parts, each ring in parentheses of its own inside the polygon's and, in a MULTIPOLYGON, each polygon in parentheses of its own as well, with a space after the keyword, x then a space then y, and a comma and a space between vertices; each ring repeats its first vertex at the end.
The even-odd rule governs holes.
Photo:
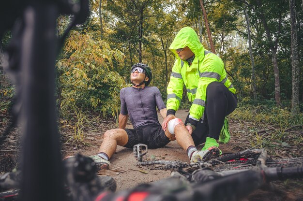
POLYGON ((113 61, 121 64, 124 55, 108 43, 93 40, 89 33, 72 31, 57 62, 61 84, 61 114, 72 106, 115 116, 120 107, 124 78, 112 71, 113 61))

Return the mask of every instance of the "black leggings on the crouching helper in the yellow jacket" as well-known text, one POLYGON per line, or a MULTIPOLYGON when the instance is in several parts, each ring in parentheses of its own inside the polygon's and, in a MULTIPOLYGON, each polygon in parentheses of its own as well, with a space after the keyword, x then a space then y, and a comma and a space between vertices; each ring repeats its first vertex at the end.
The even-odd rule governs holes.
MULTIPOLYGON (((236 109, 237 102, 237 96, 231 93, 222 83, 212 82, 207 86, 203 122, 201 123, 200 119, 192 134, 196 146, 204 143, 206 137, 219 139, 224 119, 236 109)), ((185 120, 185 125, 188 116, 189 114, 185 120)))

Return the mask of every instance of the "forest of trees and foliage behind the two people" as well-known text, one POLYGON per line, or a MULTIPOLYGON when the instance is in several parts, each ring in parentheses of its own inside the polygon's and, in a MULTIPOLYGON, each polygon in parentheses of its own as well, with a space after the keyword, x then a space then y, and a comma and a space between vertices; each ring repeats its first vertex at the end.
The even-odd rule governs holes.
MULTIPOLYGON (((90 6, 89 19, 70 32, 55 66, 59 120, 75 129, 73 142, 82 142, 89 118, 118 123, 120 89, 130 86, 137 62, 152 68, 151 86, 166 102, 175 61, 168 47, 186 26, 224 61, 239 99, 234 117, 280 128, 303 125, 303 0, 90 0, 90 6)), ((70 20, 58 18, 58 35, 70 20)), ((0 64, 10 38, 7 32, 0 44, 0 64)), ((0 70, 0 112, 8 113, 15 86, 0 70)), ((181 107, 190 107, 186 90, 181 107)))

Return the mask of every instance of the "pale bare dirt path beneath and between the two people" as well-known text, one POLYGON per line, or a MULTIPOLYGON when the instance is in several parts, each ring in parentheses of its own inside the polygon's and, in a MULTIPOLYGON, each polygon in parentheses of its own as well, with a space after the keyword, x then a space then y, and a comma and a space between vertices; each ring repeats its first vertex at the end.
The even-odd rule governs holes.
MULTIPOLYGON (((177 111, 176 116, 182 119, 184 122, 186 116, 188 114, 188 110, 179 110, 177 111)), ((158 113, 159 122, 163 122, 162 116, 158 113)), ((126 128, 132 129, 132 125, 127 125, 126 128)), ((97 134, 96 143, 94 143, 93 147, 85 148, 84 152, 81 151, 82 154, 89 156, 95 155, 98 151, 98 147, 102 141, 102 136, 100 133, 97 134)), ((229 152, 230 147, 233 147, 233 142, 227 144, 220 145, 220 148, 223 152, 229 152)), ((201 146, 201 145, 200 145, 201 146)), ((202 146, 200 147, 202 148, 202 146)), ((168 143, 163 148, 158 149, 149 149, 146 158, 155 158, 159 160, 180 160, 184 162, 189 162, 189 159, 186 155, 186 152, 180 147, 177 141, 173 141, 168 143)), ((133 150, 125 147, 118 146, 116 154, 110 159, 112 164, 111 170, 116 171, 105 171, 104 174, 109 174, 114 177, 117 182, 117 190, 126 189, 130 187, 135 187, 140 183, 148 183, 152 181, 157 181, 159 179, 163 179, 170 175, 170 171, 164 170, 149 170, 147 167, 139 167, 136 165, 136 158, 134 157, 133 150)))

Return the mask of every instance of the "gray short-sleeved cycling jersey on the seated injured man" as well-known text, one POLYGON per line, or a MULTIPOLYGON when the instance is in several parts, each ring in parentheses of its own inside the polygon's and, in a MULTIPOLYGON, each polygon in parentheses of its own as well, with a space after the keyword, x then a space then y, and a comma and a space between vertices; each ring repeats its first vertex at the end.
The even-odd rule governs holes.
POLYGON ((151 124, 160 125, 158 110, 166 108, 159 89, 155 86, 144 88, 125 87, 120 91, 121 114, 129 115, 134 129, 151 124))

